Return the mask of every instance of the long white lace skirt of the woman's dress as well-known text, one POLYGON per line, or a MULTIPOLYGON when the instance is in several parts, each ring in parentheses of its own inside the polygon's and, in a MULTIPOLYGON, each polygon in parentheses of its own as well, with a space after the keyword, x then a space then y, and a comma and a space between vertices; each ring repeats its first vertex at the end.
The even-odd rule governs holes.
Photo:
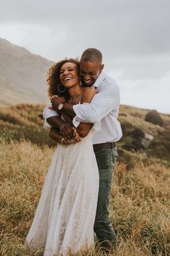
POLYGON ((99 171, 89 135, 73 145, 58 145, 26 242, 44 256, 67 255, 94 244, 99 171))

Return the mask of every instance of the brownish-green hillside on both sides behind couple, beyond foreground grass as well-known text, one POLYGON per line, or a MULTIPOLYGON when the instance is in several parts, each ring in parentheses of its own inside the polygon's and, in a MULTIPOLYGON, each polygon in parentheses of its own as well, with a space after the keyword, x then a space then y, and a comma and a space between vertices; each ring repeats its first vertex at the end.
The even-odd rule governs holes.
MULTIPOLYGON (((30 140, 37 145, 55 146, 48 137, 48 130, 42 128, 43 105, 20 104, 8 108, 0 108, 0 140, 30 140)), ((122 161, 129 154, 143 158, 153 156, 169 165, 170 154, 170 115, 161 114, 164 125, 161 127, 145 121, 148 110, 131 106, 120 106, 119 120, 122 126, 122 139, 117 143, 122 161), (137 129, 137 133, 135 134, 137 129), (135 131, 135 132, 134 132, 135 131), (145 140, 140 133, 151 135, 153 140, 145 140), (149 145, 148 145, 149 144, 149 145)))

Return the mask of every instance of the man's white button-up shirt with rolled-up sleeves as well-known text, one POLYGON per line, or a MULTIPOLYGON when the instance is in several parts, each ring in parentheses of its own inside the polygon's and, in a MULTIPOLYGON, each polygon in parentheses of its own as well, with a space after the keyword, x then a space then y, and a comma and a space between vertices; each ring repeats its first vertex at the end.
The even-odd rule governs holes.
MULTIPOLYGON (((115 80, 112 80, 103 71, 99 74, 93 87, 97 88, 98 93, 94 95, 91 103, 73 106, 73 111, 76 113, 73 118, 73 125, 78 127, 80 122, 96 123, 100 121, 101 129, 94 133, 93 144, 117 142, 122 137, 120 122, 117 120, 120 90, 115 80)), ((45 119, 44 127, 50 127, 46 119, 50 116, 58 116, 58 114, 46 106, 43 116, 45 119)))

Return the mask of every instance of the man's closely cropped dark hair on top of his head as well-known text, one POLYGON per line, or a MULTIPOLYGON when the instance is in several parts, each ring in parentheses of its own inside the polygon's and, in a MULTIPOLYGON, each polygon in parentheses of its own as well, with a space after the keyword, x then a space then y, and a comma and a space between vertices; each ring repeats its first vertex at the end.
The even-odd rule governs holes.
POLYGON ((81 56, 81 61, 99 61, 102 64, 102 53, 96 48, 87 48, 81 56))

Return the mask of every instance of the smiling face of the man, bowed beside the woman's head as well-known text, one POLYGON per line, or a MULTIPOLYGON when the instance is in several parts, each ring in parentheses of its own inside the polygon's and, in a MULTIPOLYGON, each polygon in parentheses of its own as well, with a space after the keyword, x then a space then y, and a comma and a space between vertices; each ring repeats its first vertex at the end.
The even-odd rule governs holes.
POLYGON ((80 61, 81 82, 84 86, 91 86, 99 77, 104 65, 98 61, 80 61))

